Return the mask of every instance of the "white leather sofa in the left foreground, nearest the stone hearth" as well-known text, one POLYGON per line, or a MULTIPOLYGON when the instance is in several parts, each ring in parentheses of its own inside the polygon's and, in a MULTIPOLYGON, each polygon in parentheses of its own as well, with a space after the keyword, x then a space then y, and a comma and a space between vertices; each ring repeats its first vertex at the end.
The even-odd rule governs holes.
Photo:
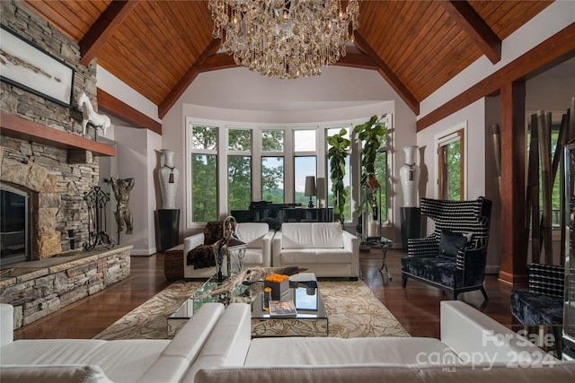
POLYGON ((203 305, 172 341, 14 341, 13 307, 0 304, 0 381, 177 382, 198 358, 223 313, 224 307, 218 303, 203 305))

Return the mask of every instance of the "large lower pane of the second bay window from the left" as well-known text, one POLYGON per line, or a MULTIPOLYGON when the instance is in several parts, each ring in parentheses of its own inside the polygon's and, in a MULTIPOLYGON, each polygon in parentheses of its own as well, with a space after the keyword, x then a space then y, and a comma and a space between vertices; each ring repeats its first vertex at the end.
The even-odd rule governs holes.
POLYGON ((229 156, 227 159, 227 208, 246 210, 252 202, 252 157, 229 156))

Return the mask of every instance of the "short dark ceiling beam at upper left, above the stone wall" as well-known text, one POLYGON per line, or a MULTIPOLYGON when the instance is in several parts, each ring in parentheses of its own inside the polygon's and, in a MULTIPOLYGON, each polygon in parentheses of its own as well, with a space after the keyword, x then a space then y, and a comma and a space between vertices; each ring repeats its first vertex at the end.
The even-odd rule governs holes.
POLYGON ((92 28, 87 31, 84 38, 80 40, 80 64, 87 66, 96 57, 102 45, 106 43, 113 31, 124 21, 128 13, 136 7, 136 0, 112 1, 98 20, 93 23, 92 28))

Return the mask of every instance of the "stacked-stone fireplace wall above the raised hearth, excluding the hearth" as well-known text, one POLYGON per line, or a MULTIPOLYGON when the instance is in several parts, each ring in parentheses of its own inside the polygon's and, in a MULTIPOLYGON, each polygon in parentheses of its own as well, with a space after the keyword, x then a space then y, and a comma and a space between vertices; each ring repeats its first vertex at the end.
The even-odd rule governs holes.
POLYGON ((81 65, 78 44, 20 0, 0 2, 0 17, 5 28, 74 68, 71 105, 58 104, 11 83, 0 83, 0 182, 29 193, 30 260, 42 260, 70 249, 68 231, 75 231, 78 247, 89 237, 83 198, 98 184, 98 157, 91 150, 83 150, 89 144, 62 144, 59 137, 95 143, 92 126, 83 135, 77 98, 85 92, 90 100, 96 100, 96 60, 81 65), (11 128, 27 124, 36 130, 34 135, 13 134, 11 128))

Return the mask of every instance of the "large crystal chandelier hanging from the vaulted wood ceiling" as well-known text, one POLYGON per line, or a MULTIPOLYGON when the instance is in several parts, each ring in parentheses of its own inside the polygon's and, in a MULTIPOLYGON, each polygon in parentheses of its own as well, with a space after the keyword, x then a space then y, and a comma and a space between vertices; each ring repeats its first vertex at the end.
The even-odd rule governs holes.
POLYGON ((358 0, 209 0, 214 39, 237 65, 268 77, 322 74, 345 56, 359 27, 358 0))

